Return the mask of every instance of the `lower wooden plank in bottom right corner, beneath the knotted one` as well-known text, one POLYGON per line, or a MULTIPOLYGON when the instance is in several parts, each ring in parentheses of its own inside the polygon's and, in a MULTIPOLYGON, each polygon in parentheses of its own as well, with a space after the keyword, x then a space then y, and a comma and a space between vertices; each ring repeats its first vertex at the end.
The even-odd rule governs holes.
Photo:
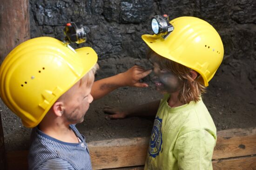
POLYGON ((212 166, 213 170, 256 170, 256 156, 214 160, 212 166))

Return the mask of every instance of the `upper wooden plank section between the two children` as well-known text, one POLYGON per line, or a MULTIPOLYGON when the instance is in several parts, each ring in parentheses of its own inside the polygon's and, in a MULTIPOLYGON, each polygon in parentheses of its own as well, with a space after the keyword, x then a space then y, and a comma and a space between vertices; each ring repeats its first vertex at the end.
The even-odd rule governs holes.
POLYGON ((94 170, 143 165, 149 138, 113 139, 88 143, 94 170))

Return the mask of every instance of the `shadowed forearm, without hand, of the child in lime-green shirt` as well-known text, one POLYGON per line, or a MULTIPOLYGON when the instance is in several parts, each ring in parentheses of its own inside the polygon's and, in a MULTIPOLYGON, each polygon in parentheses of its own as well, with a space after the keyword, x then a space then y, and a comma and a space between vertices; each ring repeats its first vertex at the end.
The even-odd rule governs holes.
POLYGON ((152 101, 128 109, 128 117, 131 116, 155 116, 159 107, 160 100, 152 101))

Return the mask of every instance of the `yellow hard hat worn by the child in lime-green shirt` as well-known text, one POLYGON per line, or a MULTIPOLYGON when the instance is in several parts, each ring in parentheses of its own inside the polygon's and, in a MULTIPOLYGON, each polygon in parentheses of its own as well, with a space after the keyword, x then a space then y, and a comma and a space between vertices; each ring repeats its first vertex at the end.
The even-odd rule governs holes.
POLYGON ((169 22, 174 30, 166 39, 160 35, 142 35, 158 55, 197 71, 208 86, 220 66, 224 49, 217 31, 208 22, 195 17, 179 17, 169 22))

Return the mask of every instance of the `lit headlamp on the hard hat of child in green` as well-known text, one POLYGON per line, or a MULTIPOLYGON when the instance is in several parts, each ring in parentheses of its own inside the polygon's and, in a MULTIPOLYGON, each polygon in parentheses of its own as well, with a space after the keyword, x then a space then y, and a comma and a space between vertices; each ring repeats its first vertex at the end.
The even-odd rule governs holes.
POLYGON ((171 31, 174 30, 174 26, 169 23, 169 17, 167 14, 155 15, 151 19, 152 30, 156 35, 161 35, 163 38, 167 38, 171 31))

